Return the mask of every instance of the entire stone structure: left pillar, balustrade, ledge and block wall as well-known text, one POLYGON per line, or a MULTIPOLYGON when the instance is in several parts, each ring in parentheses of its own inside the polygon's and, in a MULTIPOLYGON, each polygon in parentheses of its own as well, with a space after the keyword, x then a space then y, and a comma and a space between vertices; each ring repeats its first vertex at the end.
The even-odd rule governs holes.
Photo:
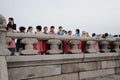
POLYGON ((82 80, 98 76, 120 73, 120 38, 95 39, 91 37, 37 35, 24 33, 8 33, 6 21, 0 15, 0 80, 82 80), (7 43, 11 39, 22 39, 25 50, 22 56, 9 56, 11 53, 7 43), (68 40, 71 49, 67 55, 32 55, 38 51, 33 44, 45 40, 50 45, 49 54, 60 54, 63 41, 68 40), (86 52, 78 49, 80 42, 86 43, 86 52), (95 43, 100 45, 103 54, 97 54, 95 43), (114 47, 109 48, 112 44, 114 47), (110 53, 110 49, 115 51, 110 53), (94 54, 95 53, 95 54, 94 54), (26 55, 27 54, 27 55, 26 55))

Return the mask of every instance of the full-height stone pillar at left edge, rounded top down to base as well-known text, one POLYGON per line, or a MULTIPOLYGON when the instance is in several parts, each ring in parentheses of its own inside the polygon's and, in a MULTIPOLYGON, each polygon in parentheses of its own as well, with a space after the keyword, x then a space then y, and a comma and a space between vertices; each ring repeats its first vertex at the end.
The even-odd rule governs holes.
POLYGON ((6 20, 0 15, 0 80, 8 80, 7 62, 5 56, 10 55, 6 42, 6 20))

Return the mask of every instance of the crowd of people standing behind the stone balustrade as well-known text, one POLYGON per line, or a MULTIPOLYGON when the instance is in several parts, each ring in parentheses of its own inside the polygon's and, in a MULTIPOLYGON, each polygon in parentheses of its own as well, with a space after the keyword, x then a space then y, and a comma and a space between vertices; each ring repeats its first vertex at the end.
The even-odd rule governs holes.
MULTIPOLYGON (((16 24, 14 23, 14 19, 10 17, 9 22, 7 24, 7 31, 8 32, 18 32, 16 30, 16 24)), ((69 36, 77 36, 77 37, 90 37, 89 33, 86 31, 82 31, 82 34, 80 33, 80 29, 76 29, 75 33, 73 34, 71 30, 67 31, 64 30, 62 26, 58 27, 58 31, 55 32, 55 27, 51 26, 50 30, 48 31, 48 27, 42 27, 40 25, 36 26, 36 31, 33 32, 33 27, 29 26, 26 32, 26 27, 21 26, 19 27, 19 33, 28 33, 28 34, 46 34, 46 35, 69 35, 69 36), (43 31, 42 31, 43 28, 43 31)), ((95 33, 92 34, 91 37, 96 37, 96 38, 107 38, 109 36, 108 33, 105 33, 103 35, 96 35, 95 33)), ((116 37, 116 35, 115 35, 116 37)), ((37 44, 34 44, 34 49, 38 50, 38 54, 45 54, 46 51, 49 49, 49 45, 46 43, 45 40, 39 40, 37 44)), ((21 43, 21 39, 12 39, 12 41, 9 43, 8 49, 11 51, 11 55, 14 55, 15 52, 20 52, 21 50, 25 49, 25 45, 21 43)), ((70 49, 71 46, 69 45, 69 40, 64 40, 63 45, 60 46, 60 49, 63 49, 63 53, 67 53, 70 49)), ((80 44, 78 44, 78 49, 81 49, 82 52, 85 52, 86 50, 86 42, 85 41, 80 41, 80 44)), ((95 44, 95 49, 96 52, 99 52, 99 44, 96 42, 95 44)))

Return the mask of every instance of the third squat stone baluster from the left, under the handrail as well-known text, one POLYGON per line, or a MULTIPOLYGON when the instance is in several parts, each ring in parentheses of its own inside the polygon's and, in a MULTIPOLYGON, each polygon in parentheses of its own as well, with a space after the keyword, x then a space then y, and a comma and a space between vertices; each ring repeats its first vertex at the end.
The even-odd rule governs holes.
POLYGON ((80 44, 80 40, 70 40, 69 44, 71 45, 70 53, 81 53, 81 50, 78 49, 78 44, 80 44))

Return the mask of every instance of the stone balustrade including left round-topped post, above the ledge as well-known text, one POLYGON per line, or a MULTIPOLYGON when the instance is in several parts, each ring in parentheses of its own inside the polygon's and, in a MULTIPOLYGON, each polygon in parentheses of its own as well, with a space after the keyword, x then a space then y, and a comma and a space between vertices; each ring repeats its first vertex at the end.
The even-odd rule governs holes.
POLYGON ((21 51, 21 54, 37 54, 38 51, 33 48, 33 44, 37 43, 38 40, 46 40, 47 44, 50 45, 50 49, 47 50, 49 54, 63 53, 63 50, 59 49, 60 44, 64 40, 69 40, 71 49, 69 53, 81 53, 81 49, 78 49, 78 44, 81 41, 85 41, 86 50, 88 53, 96 53, 94 45, 96 42, 100 44, 100 51, 110 52, 108 48, 112 43, 113 51, 120 51, 120 38, 107 38, 107 39, 95 39, 91 37, 76 37, 76 36, 59 36, 59 35, 45 35, 45 34, 24 34, 24 33, 10 33, 6 31, 6 21, 3 16, 0 18, 0 55, 10 55, 10 51, 7 49, 7 44, 11 41, 11 38, 22 39, 22 43, 25 44, 25 50, 21 51))

